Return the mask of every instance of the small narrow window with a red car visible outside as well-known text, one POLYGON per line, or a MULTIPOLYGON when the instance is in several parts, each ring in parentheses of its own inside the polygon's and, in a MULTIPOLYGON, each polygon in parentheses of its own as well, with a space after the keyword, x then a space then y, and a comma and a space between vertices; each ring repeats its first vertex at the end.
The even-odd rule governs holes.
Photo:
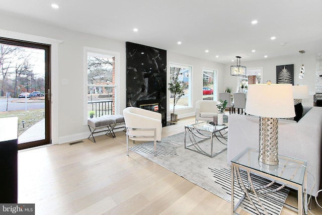
POLYGON ((217 99, 217 71, 213 69, 202 69, 202 100, 216 100, 217 99))

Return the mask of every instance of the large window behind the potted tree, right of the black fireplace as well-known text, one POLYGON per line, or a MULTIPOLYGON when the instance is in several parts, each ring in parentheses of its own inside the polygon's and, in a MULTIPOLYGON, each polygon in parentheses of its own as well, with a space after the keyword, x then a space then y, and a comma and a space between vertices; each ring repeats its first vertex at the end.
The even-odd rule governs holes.
MULTIPOLYGON (((186 107, 191 107, 191 71, 192 66, 179 64, 179 63, 170 63, 170 79, 172 76, 178 75, 179 81, 182 82, 184 86, 185 95, 182 96, 175 109, 181 109, 186 107)), ((173 100, 172 95, 170 95, 170 101, 173 100)), ((170 102, 170 110, 173 109, 173 103, 170 102)))

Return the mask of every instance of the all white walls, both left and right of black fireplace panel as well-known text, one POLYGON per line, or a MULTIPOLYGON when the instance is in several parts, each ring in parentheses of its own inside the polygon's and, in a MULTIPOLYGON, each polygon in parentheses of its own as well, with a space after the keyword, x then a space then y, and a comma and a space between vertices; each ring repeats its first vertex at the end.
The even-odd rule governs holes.
MULTIPOLYGON (((74 141, 86 138, 89 135, 88 126, 84 124, 84 46, 106 49, 114 52, 119 52, 120 59, 120 86, 119 93, 119 110, 121 113, 126 106, 125 101, 125 41, 103 38, 95 35, 85 34, 81 32, 70 31, 55 26, 39 23, 37 21, 28 20, 25 18, 14 17, 9 14, 0 14, 2 22, 0 29, 13 31, 18 33, 48 37, 63 42, 58 45, 58 64, 57 68, 51 71, 52 78, 57 80, 51 86, 52 92, 57 92, 57 95, 52 95, 53 115, 57 115, 58 119, 54 119, 57 123, 53 124, 53 130, 57 136, 53 136, 54 144, 74 141), (68 85, 61 85, 61 80, 67 79, 68 85), (58 130, 58 132, 57 132, 58 130)), ((144 44, 143 44, 144 45, 144 44)), ((162 48, 162 47, 157 47, 162 48)), ((294 56, 282 57, 276 59, 263 59, 257 61, 248 61, 242 65, 248 68, 263 67, 263 81, 271 80, 276 82, 276 65, 294 64, 294 84, 308 85, 309 93, 315 93, 315 53, 305 53, 303 55, 305 65, 305 78, 300 80, 297 78, 300 66, 302 64, 302 55, 294 54, 294 56)), ((191 116, 195 114, 195 103, 202 100, 202 69, 217 70, 217 92, 224 92, 226 86, 235 89, 237 78, 230 76, 230 64, 221 64, 208 60, 203 60, 195 57, 184 56, 167 51, 168 68, 169 62, 184 63, 193 66, 192 70, 192 107, 178 110, 176 113, 179 118, 191 116)), ((169 69, 168 69, 169 71, 169 69)), ((169 76, 168 76, 169 79, 169 76)), ((169 82, 169 80, 168 80, 169 82)), ((217 95, 218 96, 218 95, 217 95)), ((169 98, 169 92, 168 92, 169 98)), ((169 101, 168 101, 168 117, 170 117, 169 101)))

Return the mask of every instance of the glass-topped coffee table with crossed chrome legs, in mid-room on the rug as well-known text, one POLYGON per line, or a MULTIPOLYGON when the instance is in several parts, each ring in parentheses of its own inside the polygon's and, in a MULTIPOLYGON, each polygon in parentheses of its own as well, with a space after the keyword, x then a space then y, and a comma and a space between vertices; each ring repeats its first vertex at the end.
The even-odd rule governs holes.
POLYGON ((227 150, 227 128, 227 124, 212 125, 209 121, 186 125, 185 149, 213 158, 227 150))

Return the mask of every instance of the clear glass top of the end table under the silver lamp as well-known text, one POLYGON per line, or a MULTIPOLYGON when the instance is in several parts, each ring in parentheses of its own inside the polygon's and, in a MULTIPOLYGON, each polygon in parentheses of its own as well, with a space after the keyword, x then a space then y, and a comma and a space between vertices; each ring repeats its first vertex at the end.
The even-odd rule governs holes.
POLYGON ((306 161, 279 155, 278 165, 267 165, 258 160, 258 155, 258 150, 247 148, 231 162, 296 184, 303 184, 306 161))

